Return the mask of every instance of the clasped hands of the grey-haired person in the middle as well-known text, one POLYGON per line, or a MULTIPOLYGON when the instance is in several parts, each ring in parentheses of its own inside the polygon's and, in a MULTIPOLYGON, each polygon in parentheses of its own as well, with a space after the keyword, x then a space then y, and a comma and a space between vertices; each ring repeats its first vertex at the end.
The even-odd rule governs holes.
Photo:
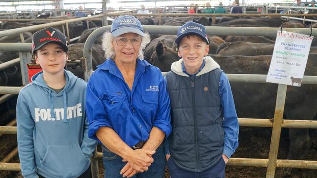
POLYGON ((120 174, 122 177, 132 177, 137 173, 142 173, 149 169, 149 166, 153 163, 154 159, 152 155, 155 150, 148 149, 136 149, 132 154, 124 158, 122 161, 127 162, 121 169, 120 174))

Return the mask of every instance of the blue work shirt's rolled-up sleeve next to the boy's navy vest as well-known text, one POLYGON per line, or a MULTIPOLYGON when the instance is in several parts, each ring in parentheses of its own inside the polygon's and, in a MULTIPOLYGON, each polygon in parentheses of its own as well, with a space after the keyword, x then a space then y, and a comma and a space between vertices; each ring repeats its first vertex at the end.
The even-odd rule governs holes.
POLYGON ((172 132, 171 126, 171 104, 170 97, 167 92, 167 86, 164 82, 161 71, 159 73, 159 96, 158 96, 158 112, 157 117, 154 120, 153 126, 158 127, 165 133, 167 138, 172 132))

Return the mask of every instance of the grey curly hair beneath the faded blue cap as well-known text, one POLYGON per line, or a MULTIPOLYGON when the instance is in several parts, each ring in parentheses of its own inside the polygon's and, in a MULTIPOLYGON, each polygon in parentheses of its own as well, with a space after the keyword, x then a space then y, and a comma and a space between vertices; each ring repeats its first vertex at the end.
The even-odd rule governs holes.
MULTIPOLYGON (((112 60, 115 59, 116 53, 115 50, 113 49, 111 43, 115 39, 114 36, 110 32, 105 32, 102 35, 102 50, 105 52, 104 56, 106 58, 110 58, 112 60)), ((146 47, 146 45, 151 41, 150 35, 148 33, 144 33, 144 36, 141 36, 142 42, 141 42, 141 47, 139 51, 138 58, 143 60, 143 50, 146 47)))

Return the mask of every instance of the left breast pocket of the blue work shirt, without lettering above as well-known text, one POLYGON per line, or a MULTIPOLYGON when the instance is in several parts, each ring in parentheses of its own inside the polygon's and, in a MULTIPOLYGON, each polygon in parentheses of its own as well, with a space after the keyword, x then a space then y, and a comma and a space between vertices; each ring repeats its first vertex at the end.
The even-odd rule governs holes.
POLYGON ((127 112, 129 108, 126 105, 125 94, 107 94, 104 93, 100 98, 109 119, 113 124, 126 123, 127 112))

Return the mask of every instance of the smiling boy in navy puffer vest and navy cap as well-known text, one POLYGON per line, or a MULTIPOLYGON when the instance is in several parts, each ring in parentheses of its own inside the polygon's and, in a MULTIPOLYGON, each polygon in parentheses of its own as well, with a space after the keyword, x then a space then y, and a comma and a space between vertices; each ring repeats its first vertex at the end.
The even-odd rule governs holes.
POLYGON ((208 55, 203 25, 178 29, 178 56, 166 74, 172 134, 167 165, 171 178, 224 178, 238 147, 238 117, 228 78, 208 55))

